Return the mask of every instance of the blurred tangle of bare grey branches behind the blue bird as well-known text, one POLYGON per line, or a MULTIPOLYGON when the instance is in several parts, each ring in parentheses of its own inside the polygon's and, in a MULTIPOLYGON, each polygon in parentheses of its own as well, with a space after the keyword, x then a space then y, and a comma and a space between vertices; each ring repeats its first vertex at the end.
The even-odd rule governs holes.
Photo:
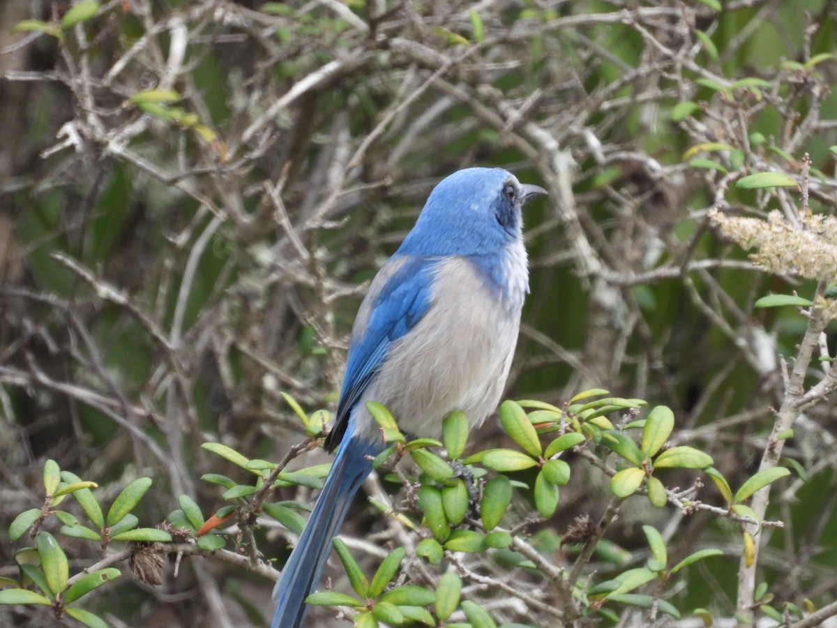
MULTIPOLYGON (((785 396, 778 356, 792 360, 806 321, 753 303, 813 297, 815 282, 759 270, 707 213, 793 215, 793 188, 733 182, 799 180, 806 152, 812 208, 833 213, 837 63, 817 55, 834 53, 835 3, 116 0, 61 40, 10 33, 67 8, 0 8, 3 528, 40 506, 48 458, 110 499, 151 476, 146 525, 183 493, 222 506, 199 478, 234 471, 199 445, 277 461, 304 440, 280 393, 334 407, 366 282, 434 183, 472 165, 550 192, 526 209, 531 296, 508 396, 560 406, 600 386, 666 404, 673 443, 710 452, 733 486, 757 471, 785 396), (151 89, 179 98, 130 101, 151 89)), ((777 608, 837 595, 834 399, 793 429, 783 456, 807 476, 773 486, 768 518, 785 527, 765 528, 757 561, 777 608)), ((495 421, 477 438, 503 442, 495 421)), ((607 507, 607 476, 567 460, 573 481, 535 529, 560 535, 607 507)), ((705 483, 699 499, 721 504, 705 483)), ((608 531, 626 564, 647 558, 644 523, 675 556, 723 550, 671 600, 732 618, 738 524, 634 497, 608 531)), ((359 502, 343 532, 376 525, 359 502)), ((265 557, 286 555, 284 528, 257 534, 265 557)), ((0 547, 3 575, 15 548, 0 547)), ((87 564, 82 543, 67 551, 87 564)), ((162 586, 128 580, 95 598, 116 625, 270 612, 269 580, 207 559, 162 586)), ((50 620, 39 612, 9 607, 0 623, 50 620)))

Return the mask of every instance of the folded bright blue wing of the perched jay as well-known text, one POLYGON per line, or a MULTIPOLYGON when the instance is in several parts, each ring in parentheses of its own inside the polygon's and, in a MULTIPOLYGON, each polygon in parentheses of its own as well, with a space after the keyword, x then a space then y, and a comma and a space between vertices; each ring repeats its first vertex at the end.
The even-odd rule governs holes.
POLYGON ((433 278, 439 258, 397 255, 378 271, 378 276, 391 275, 377 289, 375 282, 361 305, 352 340, 346 374, 337 405, 337 416, 326 438, 326 449, 334 450, 346 433, 349 415, 363 391, 386 362, 393 342, 407 334, 427 313, 431 305, 433 278), (394 271, 388 271, 394 265, 394 271), (371 300, 367 303, 367 300, 371 300), (369 308, 368 317, 363 310, 369 308), (366 318, 366 327, 362 319, 366 318))

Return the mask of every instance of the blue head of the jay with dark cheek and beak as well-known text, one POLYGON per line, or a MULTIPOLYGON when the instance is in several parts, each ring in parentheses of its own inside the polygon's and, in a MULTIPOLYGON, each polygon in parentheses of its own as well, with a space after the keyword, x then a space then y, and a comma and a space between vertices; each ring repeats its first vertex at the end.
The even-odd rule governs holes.
POLYGON ((430 193, 396 255, 492 255, 521 241, 521 207, 546 193, 502 168, 466 168, 430 193))

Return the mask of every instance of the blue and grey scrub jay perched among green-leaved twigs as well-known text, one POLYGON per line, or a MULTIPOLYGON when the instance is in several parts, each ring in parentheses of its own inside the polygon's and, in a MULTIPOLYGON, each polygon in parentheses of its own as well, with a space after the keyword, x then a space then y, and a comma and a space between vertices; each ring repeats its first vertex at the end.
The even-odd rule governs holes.
POLYGON ((367 402, 388 408, 405 434, 428 438, 439 438, 454 410, 472 427, 495 411, 529 292, 521 208, 545 193, 502 168, 454 172, 378 270, 352 326, 324 442, 336 457, 275 585, 272 628, 304 625, 332 540, 386 446, 367 402))

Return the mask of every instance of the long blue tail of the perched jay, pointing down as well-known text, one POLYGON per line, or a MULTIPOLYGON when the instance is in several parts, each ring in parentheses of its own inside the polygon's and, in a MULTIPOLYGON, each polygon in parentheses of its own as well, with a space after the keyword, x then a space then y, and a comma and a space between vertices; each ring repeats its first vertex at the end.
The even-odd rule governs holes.
POLYGON ((314 593, 331 553, 331 540, 340 529, 352 497, 372 471, 378 447, 354 436, 344 438, 326 484, 317 497, 314 511, 302 531, 300 542, 290 553, 285 569, 273 589, 277 600, 271 628, 301 628, 306 619, 306 597, 314 593))

